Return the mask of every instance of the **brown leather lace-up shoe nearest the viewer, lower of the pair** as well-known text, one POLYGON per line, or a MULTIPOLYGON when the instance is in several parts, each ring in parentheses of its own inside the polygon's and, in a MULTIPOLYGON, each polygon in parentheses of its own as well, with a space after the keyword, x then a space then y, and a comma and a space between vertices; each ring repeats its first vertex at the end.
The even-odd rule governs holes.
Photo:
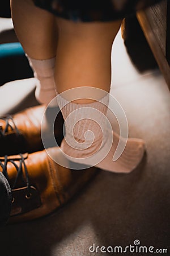
MULTIPOLYGON (((52 148, 61 157, 58 147, 52 148)), ((12 189, 9 222, 28 221, 60 208, 99 170, 59 166, 45 150, 0 158, 0 171, 12 189)))

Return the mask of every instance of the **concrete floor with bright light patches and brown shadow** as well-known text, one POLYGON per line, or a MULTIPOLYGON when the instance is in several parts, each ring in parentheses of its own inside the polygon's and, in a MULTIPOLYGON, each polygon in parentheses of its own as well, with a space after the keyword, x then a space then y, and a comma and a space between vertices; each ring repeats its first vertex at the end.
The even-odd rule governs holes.
MULTIPOLYGON (((100 171, 79 195, 50 216, 1 229, 0 255, 109 255, 91 254, 89 247, 94 243, 125 247, 135 240, 170 253, 169 90, 158 70, 141 74, 135 69, 120 32, 113 44, 112 67, 111 93, 125 110, 129 135, 146 141, 145 159, 128 175, 100 171)), ((33 87, 27 89, 24 93, 33 99, 33 87)), ((7 91, 3 92, 0 97, 5 98, 7 91)), ((24 93, 18 98, 21 109, 27 102, 24 93)))

